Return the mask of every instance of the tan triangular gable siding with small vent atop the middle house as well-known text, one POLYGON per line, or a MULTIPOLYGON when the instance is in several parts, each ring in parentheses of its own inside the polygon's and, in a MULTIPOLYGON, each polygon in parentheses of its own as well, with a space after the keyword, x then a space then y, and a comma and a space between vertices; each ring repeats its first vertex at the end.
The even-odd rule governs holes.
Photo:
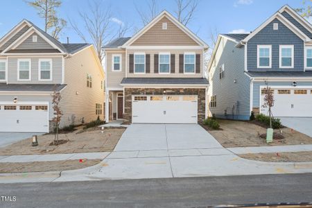
POLYGON ((167 17, 160 19, 146 33, 141 35, 132 46, 198 46, 189 35, 181 31, 167 17), (167 29, 162 29, 162 23, 167 23, 167 29))

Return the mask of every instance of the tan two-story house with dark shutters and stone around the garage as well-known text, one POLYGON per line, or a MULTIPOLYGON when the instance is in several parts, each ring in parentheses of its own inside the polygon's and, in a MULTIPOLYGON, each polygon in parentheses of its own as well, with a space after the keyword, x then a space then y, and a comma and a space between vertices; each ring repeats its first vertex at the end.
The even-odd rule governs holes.
POLYGON ((163 11, 104 46, 106 121, 200 123, 207 115, 207 44, 163 11))

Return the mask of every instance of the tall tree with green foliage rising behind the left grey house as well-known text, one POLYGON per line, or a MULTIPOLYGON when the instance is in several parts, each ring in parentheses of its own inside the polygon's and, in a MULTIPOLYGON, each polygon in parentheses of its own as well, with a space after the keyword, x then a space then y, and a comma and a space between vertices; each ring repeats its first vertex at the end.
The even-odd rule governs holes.
POLYGON ((39 17, 44 19, 44 31, 55 39, 59 38, 60 32, 67 25, 67 21, 58 17, 57 8, 62 6, 61 0, 33 0, 26 1, 29 6, 37 10, 39 17))

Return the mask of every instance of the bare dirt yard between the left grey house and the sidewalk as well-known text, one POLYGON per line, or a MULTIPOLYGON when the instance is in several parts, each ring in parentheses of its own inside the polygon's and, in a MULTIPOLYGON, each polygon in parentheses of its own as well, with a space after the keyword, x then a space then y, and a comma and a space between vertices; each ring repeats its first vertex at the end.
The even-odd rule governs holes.
POLYGON ((50 146, 53 134, 38 137, 38 146, 31 146, 32 139, 24 139, 15 144, 0 148, 0 155, 42 155, 62 153, 92 153, 110 152, 114 150, 125 128, 107 128, 101 133, 100 128, 76 130, 67 134, 60 134, 59 139, 67 143, 50 146))

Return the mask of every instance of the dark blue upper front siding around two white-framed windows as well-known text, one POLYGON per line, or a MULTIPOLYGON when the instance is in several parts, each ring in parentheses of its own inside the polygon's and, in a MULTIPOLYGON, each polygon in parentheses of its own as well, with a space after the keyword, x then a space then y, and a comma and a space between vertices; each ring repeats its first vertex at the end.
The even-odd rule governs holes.
POLYGON ((254 35, 247 43, 248 71, 304 71, 304 42, 278 19, 254 35), (278 30, 273 30, 273 24, 279 24, 278 30), (272 68, 257 68, 257 45, 272 45, 272 68), (279 68, 279 45, 294 46, 294 68, 279 68))

